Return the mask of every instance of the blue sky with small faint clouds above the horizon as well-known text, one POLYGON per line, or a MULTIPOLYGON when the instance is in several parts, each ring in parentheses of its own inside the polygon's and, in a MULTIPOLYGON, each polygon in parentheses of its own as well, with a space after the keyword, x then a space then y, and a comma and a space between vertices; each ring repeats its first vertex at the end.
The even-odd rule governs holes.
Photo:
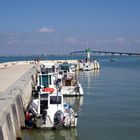
POLYGON ((0 55, 86 48, 140 52, 140 0, 0 0, 0 55))

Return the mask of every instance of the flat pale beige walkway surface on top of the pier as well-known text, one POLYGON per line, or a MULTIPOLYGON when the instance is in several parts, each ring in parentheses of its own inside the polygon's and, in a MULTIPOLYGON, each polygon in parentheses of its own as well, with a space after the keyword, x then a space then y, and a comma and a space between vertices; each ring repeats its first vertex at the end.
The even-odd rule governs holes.
POLYGON ((33 65, 21 64, 0 69, 0 92, 5 91, 33 65))

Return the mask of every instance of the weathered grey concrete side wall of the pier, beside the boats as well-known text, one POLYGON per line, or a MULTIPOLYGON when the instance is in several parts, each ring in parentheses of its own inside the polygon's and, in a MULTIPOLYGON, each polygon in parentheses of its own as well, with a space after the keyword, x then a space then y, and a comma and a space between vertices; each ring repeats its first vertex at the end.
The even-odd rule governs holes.
POLYGON ((25 126, 24 111, 36 82, 36 67, 32 67, 10 88, 0 94, 0 140, 21 138, 25 126))

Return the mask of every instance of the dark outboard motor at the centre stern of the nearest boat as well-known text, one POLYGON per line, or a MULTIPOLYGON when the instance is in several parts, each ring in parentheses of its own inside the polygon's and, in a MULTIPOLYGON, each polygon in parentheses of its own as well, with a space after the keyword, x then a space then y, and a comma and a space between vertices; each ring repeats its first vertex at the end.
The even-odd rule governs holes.
POLYGON ((54 114, 54 128, 58 129, 63 127, 63 121, 64 119, 64 114, 61 110, 58 110, 55 114, 54 114))

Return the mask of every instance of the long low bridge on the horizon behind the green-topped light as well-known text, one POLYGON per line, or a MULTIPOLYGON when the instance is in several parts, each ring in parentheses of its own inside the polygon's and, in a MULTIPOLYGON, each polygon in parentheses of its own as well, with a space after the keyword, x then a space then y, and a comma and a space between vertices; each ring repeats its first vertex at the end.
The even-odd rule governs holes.
MULTIPOLYGON (((74 51, 70 55, 85 55, 86 51, 74 51)), ((127 56, 140 56, 140 53, 135 52, 116 52, 116 51, 91 51, 91 55, 127 55, 127 56)))

